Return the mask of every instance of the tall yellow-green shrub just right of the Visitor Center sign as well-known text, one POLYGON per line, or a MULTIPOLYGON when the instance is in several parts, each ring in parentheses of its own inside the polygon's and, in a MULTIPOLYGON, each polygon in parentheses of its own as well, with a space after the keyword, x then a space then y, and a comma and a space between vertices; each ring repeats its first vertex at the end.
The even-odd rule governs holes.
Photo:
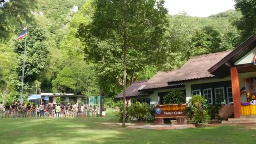
POLYGON ((205 123, 209 120, 208 111, 205 110, 206 108, 206 101, 205 97, 201 95, 192 96, 192 99, 189 100, 189 114, 192 117, 192 122, 194 123, 205 123))

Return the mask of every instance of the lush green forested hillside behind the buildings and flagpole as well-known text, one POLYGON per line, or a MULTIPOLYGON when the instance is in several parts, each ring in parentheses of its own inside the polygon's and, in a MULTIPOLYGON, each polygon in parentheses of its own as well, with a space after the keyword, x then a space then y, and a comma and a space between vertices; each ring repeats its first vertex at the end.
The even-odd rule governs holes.
MULTIPOLYGON (((245 24, 248 9, 237 0, 238 10, 209 17, 180 13, 168 16, 161 46, 146 55, 128 49, 127 82, 149 79, 159 70, 181 67, 190 56, 234 49, 254 33, 245 24), (248 31, 250 33, 248 33, 248 31), (147 57, 147 58, 146 58, 147 57), (150 60, 149 60, 150 59, 150 60)), ((107 41, 95 43, 99 51, 83 40, 82 25, 95 12, 94 0, 0 0, 0 96, 3 101, 19 100, 24 39, 17 35, 27 24, 25 95, 59 92, 114 97, 122 90, 122 51, 107 41), (24 8, 23 13, 15 8, 24 8), (12 10, 12 11, 11 11, 12 10), (11 11, 11 14, 10 14, 11 11), (82 34, 82 36, 81 36, 82 34)), ((169 10, 171 11, 171 10, 169 10)), ((253 28, 254 29, 253 29, 253 28)), ((127 85, 127 86, 128 86, 127 85)))

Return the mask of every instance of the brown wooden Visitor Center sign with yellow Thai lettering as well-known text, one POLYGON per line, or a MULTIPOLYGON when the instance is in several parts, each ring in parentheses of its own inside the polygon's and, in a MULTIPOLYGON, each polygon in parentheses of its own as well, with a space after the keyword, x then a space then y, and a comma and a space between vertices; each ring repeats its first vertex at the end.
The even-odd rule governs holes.
POLYGON ((155 105, 155 118, 184 117, 187 115, 186 110, 186 104, 155 105))

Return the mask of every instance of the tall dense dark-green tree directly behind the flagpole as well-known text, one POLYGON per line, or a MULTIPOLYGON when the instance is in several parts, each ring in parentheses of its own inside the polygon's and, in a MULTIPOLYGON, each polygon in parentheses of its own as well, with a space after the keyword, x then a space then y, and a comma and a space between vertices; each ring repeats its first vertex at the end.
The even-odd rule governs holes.
MULTIPOLYGON (((24 82, 33 83, 40 78, 48 64, 47 55, 49 53, 48 45, 46 43, 46 30, 39 24, 34 24, 28 27, 27 35, 27 50, 25 60, 24 82)), ((18 54, 17 72, 21 76, 23 53, 24 53, 25 39, 19 40, 15 43, 14 51, 18 54)))

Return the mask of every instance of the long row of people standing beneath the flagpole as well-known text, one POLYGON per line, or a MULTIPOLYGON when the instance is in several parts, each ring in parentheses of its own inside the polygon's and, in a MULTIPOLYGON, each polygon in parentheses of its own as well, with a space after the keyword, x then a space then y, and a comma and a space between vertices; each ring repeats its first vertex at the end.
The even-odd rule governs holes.
MULTIPOLYGON (((3 102, 0 102, 0 117, 100 117, 100 107, 87 104, 15 104, 4 106, 3 102)), ((106 117, 106 108, 103 106, 101 111, 102 117, 106 117)))

